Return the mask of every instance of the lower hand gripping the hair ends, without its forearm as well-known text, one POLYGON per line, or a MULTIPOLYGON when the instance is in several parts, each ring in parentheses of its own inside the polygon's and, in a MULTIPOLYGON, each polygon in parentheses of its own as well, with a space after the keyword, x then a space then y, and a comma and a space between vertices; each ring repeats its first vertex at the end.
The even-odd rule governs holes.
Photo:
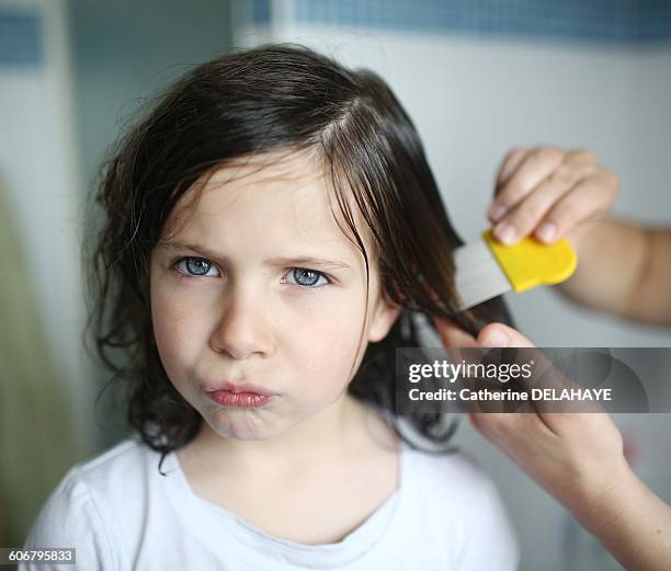
MULTIPOLYGON (((454 323, 434 318, 446 349, 532 347, 514 329, 490 323, 475 339, 454 323)), ((619 431, 604 412, 476 413, 475 429, 501 448, 534 480, 590 527, 610 517, 604 504, 630 478, 619 431)), ((605 522, 603 522, 605 523, 605 522)))

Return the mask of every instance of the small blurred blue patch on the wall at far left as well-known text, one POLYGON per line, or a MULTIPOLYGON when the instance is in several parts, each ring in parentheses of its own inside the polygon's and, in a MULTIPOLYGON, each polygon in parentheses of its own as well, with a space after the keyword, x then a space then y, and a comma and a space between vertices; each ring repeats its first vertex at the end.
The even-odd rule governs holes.
POLYGON ((42 64, 42 30, 34 12, 0 9, 0 66, 37 67, 42 64))

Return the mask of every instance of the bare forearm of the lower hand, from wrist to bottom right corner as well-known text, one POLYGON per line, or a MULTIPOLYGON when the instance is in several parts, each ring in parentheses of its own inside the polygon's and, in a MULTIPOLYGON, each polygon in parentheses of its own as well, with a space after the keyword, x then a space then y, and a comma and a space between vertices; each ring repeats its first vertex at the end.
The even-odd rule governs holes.
POLYGON ((632 471, 581 518, 627 571, 671 569, 671 507, 632 471))

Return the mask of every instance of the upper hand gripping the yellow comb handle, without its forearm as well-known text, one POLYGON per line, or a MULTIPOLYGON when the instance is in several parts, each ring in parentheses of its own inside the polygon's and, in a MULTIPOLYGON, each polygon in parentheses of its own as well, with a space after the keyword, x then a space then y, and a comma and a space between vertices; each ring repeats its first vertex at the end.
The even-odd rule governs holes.
POLYGON ((617 176, 590 151, 519 147, 501 163, 488 217, 505 244, 530 235, 546 243, 562 237, 573 243, 582 222, 610 209, 618 187, 617 176))

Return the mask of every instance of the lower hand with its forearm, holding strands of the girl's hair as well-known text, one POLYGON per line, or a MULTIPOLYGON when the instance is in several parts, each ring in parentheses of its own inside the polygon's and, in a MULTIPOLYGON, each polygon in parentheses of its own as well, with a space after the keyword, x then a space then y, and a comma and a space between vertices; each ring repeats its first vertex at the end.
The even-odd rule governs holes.
MULTIPOLYGON (((502 323, 477 339, 434 318, 443 345, 518 346, 533 343, 502 323)), ((470 413, 476 430, 505 453, 628 571, 671 567, 671 507, 632 471, 622 435, 606 413, 470 413)))

